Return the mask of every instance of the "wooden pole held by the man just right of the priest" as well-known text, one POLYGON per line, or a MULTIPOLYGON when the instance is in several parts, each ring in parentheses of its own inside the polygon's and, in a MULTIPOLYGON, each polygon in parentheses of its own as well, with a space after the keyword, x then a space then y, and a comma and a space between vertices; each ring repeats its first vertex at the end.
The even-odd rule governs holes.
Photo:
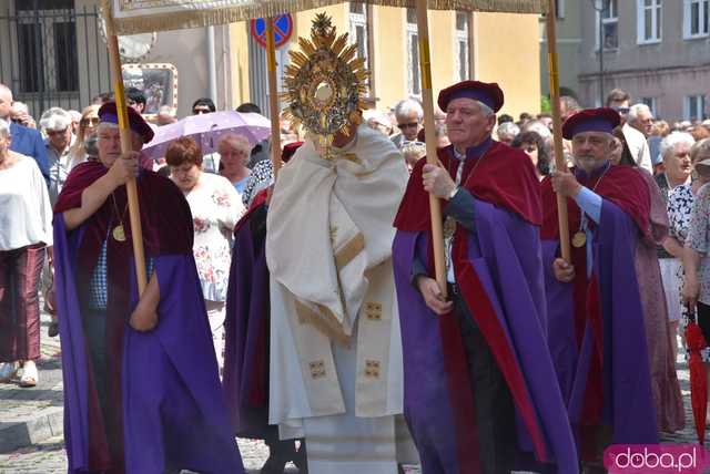
MULTIPOLYGON (((429 22, 426 0, 416 0, 417 34, 419 35, 419 69, 422 71, 422 105, 424 106, 424 136, 426 142, 426 161, 436 165, 436 136, 434 132, 434 92, 432 91, 432 60, 429 54, 429 22)), ((434 248, 434 270, 442 296, 446 291, 446 260, 444 256, 444 228, 442 225, 442 207, 439 199, 429 194, 432 213, 432 238, 434 248)))

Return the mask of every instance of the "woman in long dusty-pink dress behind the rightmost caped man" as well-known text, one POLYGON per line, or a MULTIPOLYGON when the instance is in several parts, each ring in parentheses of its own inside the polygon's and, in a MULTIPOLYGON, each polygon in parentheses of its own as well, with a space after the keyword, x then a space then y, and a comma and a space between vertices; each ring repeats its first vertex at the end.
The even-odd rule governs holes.
POLYGON ((658 429, 668 433, 682 430, 686 425, 682 395, 676 373, 674 332, 668 319, 668 306, 658 261, 657 248, 668 237, 668 213, 661 190, 651 174, 638 167, 632 158, 621 127, 613 130, 615 155, 611 162, 617 166, 635 167, 646 179, 651 198, 650 228, 636 248, 636 276, 639 282, 643 322, 651 371, 651 391, 656 405, 658 429))

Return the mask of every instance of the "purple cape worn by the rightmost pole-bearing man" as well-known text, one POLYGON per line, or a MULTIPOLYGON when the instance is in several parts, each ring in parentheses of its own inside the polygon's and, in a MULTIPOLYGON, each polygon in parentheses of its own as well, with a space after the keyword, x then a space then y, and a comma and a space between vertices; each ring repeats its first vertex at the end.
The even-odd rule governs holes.
MULTIPOLYGON (((638 236, 636 223, 616 204, 604 199, 592 240, 592 277, 599 282, 602 321, 601 422, 611 426, 613 444, 658 443, 643 308, 633 262, 638 236)), ((594 333, 587 324, 581 347, 577 348, 572 285, 558 281, 551 271, 558 247, 558 240, 542 241, 550 350, 570 421, 574 425, 589 424, 581 412, 594 333)))

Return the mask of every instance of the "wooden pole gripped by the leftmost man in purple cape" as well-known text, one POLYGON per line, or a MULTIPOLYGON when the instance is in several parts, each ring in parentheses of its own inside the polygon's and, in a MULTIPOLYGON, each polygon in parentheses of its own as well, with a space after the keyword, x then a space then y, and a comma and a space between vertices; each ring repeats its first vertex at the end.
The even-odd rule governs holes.
MULTIPOLYGON (((119 131, 121 133, 121 152, 129 153, 133 150, 131 127, 129 125, 129 111, 125 105, 125 92, 123 90, 123 75, 121 74, 121 56, 119 55, 119 39, 113 27, 113 14, 108 0, 103 2, 103 12, 106 22, 106 44, 111 63, 111 76, 113 78, 113 94, 115 95, 116 113, 119 115, 119 131)), ((138 187, 135 178, 125 184, 125 193, 129 199, 129 217, 131 220, 131 238, 133 240, 133 256, 135 258, 135 272, 138 277, 138 292, 143 295, 148 286, 145 274, 145 253, 143 249, 143 229, 141 227, 141 209, 138 202, 138 187)))

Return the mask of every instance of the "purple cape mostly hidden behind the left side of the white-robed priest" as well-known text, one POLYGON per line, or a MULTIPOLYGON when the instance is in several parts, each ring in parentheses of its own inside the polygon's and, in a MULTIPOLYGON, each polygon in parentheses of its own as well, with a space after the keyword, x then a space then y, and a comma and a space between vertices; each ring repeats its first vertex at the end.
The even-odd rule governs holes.
POLYGON ((264 439, 268 426, 268 268, 266 206, 237 224, 226 299, 224 392, 240 436, 264 439))

